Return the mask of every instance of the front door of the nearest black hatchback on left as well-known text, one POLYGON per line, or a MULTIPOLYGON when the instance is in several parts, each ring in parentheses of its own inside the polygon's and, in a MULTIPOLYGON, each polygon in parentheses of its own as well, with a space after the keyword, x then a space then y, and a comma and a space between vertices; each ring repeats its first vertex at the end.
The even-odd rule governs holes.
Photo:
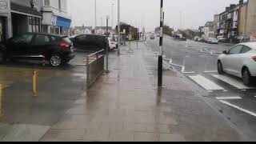
POLYGON ((15 58, 26 57, 30 55, 30 47, 32 46, 32 40, 34 34, 19 34, 10 38, 8 42, 9 55, 15 58))

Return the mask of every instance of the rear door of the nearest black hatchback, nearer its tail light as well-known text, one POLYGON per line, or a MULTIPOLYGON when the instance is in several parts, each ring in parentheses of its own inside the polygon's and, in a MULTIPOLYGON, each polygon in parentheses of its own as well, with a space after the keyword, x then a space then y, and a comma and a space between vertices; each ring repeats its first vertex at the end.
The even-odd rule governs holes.
POLYGON ((46 34, 36 34, 34 37, 33 46, 30 48, 32 57, 40 57, 46 54, 47 46, 50 43, 50 38, 46 34))

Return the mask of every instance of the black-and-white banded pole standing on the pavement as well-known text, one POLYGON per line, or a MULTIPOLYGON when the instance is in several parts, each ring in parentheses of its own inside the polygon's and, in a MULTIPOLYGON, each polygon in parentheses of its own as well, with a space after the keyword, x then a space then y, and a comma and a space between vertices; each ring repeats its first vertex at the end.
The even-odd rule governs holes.
POLYGON ((161 8, 160 8, 160 40, 159 40, 159 47, 160 47, 160 54, 158 55, 158 87, 162 87, 162 37, 163 37, 163 19, 164 14, 162 10, 163 0, 161 0, 161 8))

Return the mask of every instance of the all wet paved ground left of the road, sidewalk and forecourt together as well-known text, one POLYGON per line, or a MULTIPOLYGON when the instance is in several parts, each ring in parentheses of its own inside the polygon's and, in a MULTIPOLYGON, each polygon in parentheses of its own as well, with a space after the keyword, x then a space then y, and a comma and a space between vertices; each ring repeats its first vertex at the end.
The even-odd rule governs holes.
POLYGON ((110 74, 98 78, 87 92, 84 68, 75 64, 73 69, 39 71, 37 98, 30 91, 30 70, 22 80, 16 81, 18 73, 10 76, 0 118, 2 141, 245 140, 168 66, 158 90, 157 57, 144 42, 138 49, 135 43, 130 49, 122 47, 120 57, 110 54, 110 74))

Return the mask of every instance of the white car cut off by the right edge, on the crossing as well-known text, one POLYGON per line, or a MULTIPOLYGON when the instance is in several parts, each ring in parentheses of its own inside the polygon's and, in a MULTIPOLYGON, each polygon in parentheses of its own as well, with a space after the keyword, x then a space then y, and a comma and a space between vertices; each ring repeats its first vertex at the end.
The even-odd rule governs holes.
POLYGON ((232 74, 250 86, 256 77, 256 42, 240 43, 218 57, 218 74, 232 74))

